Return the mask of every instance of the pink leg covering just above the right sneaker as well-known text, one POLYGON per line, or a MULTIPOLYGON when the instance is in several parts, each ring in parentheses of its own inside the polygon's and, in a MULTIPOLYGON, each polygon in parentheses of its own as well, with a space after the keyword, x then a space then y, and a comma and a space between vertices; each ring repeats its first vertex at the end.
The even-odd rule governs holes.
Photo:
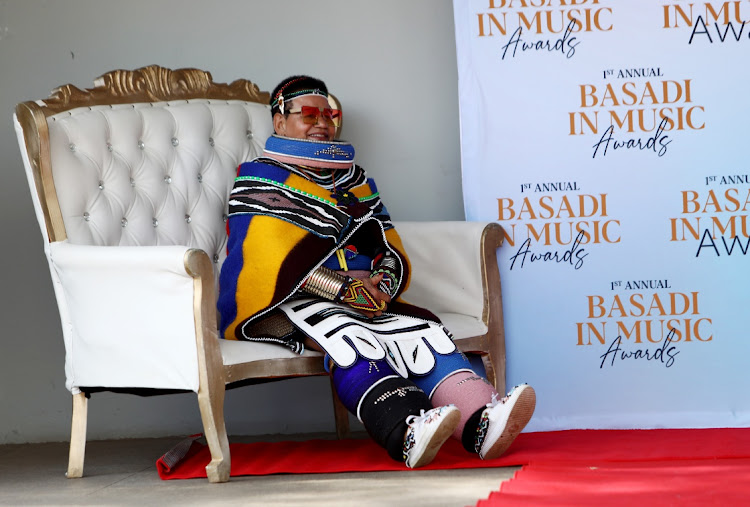
MULTIPOLYGON (((473 371, 459 371, 443 380, 432 395, 432 406, 454 404, 461 411, 461 421, 453 436, 461 440, 466 421, 474 412, 492 401, 497 394, 492 385, 473 371)), ((499 396, 498 396, 499 398, 499 396)))

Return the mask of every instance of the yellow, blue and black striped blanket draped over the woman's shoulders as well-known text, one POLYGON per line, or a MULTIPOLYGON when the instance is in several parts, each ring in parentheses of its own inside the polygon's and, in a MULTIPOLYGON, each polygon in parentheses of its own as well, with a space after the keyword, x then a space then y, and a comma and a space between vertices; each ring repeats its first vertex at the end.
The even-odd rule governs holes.
MULTIPOLYGON (((335 170, 335 192, 300 168, 271 158, 240 165, 229 198, 227 258, 218 309, 221 336, 253 339, 251 325, 295 295, 307 276, 336 250, 356 244, 374 258, 389 250, 409 263, 377 187, 356 165, 335 170)), ((264 341, 264 337, 258 337, 264 341)))

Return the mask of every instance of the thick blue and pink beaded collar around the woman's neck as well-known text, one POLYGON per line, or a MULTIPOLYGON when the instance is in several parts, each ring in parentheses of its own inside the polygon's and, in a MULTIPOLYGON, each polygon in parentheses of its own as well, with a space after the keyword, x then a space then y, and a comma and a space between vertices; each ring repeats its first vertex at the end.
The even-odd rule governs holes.
POLYGON ((263 155, 285 164, 321 169, 349 169, 354 163, 354 147, 346 141, 312 141, 276 134, 266 141, 263 155))

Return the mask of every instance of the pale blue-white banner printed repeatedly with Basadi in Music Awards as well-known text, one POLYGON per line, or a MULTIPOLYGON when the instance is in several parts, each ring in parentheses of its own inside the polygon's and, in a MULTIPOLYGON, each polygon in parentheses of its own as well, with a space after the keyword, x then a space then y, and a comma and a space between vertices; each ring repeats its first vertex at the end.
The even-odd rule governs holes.
POLYGON ((529 431, 750 426, 750 0, 454 0, 529 431))

